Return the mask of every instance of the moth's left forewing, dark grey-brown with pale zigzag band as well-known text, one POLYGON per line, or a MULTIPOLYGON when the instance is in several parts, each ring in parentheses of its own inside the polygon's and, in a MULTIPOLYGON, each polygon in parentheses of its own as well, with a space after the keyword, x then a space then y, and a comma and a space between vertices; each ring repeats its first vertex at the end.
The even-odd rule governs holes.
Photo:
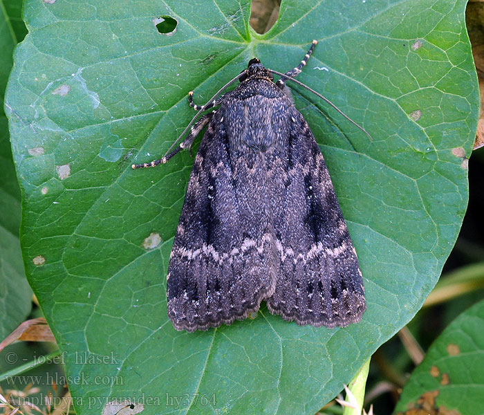
POLYGON ((246 161, 231 156, 217 111, 194 160, 170 255, 167 313, 178 330, 243 320, 274 292, 273 228, 264 202, 257 205, 263 178, 246 161))

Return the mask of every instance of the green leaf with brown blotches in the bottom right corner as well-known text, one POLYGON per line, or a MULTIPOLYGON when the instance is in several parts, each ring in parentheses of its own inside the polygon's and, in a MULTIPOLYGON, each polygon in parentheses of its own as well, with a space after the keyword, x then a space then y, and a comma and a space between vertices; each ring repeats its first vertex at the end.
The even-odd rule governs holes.
POLYGON ((422 405, 427 405, 427 411, 433 408, 439 414, 484 412, 483 324, 484 301, 481 301, 447 326, 405 384, 395 409, 400 411, 398 414, 422 405))

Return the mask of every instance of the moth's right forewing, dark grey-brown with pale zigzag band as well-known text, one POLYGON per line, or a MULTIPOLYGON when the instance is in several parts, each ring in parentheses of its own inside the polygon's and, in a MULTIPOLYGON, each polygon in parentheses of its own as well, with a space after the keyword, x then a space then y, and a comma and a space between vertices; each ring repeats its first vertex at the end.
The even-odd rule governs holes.
POLYGON ((288 166, 272 178, 283 183, 272 193, 281 268, 268 308, 301 325, 348 326, 366 308, 362 273, 323 155, 293 111, 288 166))

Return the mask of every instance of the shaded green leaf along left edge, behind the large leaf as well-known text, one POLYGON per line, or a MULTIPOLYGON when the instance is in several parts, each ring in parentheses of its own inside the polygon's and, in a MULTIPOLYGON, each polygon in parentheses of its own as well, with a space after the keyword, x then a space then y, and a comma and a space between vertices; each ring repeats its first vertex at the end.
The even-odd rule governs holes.
MULTIPOLYGON (((21 1, 0 0, 0 99, 3 102, 6 84, 12 68, 12 53, 17 36, 10 8, 21 1)), ((20 188, 12 161, 8 122, 0 107, 0 340, 15 329, 30 313, 32 291, 28 286, 19 243, 20 188)))

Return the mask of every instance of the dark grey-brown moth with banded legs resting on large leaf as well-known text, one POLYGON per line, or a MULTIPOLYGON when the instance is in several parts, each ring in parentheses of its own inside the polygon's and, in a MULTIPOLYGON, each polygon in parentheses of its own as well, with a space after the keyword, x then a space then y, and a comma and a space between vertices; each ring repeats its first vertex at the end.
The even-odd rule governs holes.
POLYGON ((132 166, 166 163, 207 125, 169 260, 167 313, 177 330, 243 320, 263 300, 284 320, 317 327, 348 326, 365 311, 362 273, 328 169, 286 86, 316 44, 286 73, 251 59, 203 106, 190 92, 198 113, 219 108, 194 124, 195 117, 180 136, 193 124, 187 138, 160 160, 132 166))

